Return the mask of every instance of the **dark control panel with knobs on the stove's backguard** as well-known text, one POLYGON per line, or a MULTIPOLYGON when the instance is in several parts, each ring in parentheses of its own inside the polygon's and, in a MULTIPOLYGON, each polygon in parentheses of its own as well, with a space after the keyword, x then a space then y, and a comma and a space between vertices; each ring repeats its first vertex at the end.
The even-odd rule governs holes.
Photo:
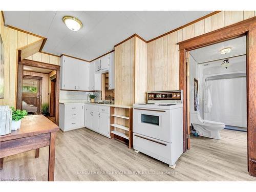
POLYGON ((147 100, 182 100, 182 91, 147 92, 147 100))

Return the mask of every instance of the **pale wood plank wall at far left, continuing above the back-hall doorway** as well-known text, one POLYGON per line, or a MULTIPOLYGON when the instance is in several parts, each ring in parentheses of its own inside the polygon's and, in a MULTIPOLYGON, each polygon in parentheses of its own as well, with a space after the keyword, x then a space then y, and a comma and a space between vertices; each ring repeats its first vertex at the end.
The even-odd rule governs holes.
MULTIPOLYGON (((5 47, 5 96, 4 99, 0 99, 0 105, 16 106, 17 49, 39 38, 4 26, 2 13, 0 24, 0 32, 5 47)), ((28 59, 59 66, 59 57, 45 53, 36 53, 28 59)))

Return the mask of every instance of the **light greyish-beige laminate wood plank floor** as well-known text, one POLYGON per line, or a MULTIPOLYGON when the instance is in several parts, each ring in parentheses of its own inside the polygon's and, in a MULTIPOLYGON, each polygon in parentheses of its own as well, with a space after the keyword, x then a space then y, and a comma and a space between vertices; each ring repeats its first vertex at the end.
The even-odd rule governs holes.
MULTIPOLYGON (((223 130, 221 140, 191 137, 175 170, 134 153, 124 143, 82 128, 57 133, 55 181, 256 181, 247 173, 246 133, 223 130)), ((48 148, 4 158, 0 180, 47 181, 48 148)))

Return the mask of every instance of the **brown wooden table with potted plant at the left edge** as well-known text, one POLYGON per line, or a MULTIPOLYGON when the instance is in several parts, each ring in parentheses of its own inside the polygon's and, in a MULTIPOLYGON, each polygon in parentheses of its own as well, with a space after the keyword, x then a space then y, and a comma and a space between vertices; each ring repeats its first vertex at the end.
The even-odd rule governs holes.
POLYGON ((48 181, 53 181, 57 131, 59 127, 43 115, 26 116, 19 130, 0 136, 0 169, 4 157, 35 150, 38 158, 39 148, 49 146, 48 181))

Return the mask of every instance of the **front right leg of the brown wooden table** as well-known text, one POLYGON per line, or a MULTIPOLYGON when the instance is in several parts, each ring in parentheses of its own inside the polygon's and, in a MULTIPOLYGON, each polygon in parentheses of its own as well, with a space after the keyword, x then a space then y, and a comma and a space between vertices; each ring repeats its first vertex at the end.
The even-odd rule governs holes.
POLYGON ((49 146, 48 181, 54 181, 55 139, 56 132, 52 132, 49 146))

